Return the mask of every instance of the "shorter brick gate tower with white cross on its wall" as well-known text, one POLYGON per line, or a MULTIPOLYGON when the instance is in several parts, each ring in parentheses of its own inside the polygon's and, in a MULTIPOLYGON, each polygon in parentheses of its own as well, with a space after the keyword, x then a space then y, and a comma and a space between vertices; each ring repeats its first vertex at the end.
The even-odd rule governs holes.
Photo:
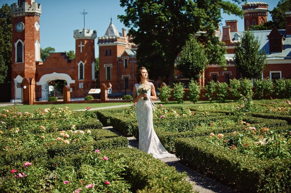
POLYGON ((95 88, 95 39, 96 30, 75 30, 76 39, 76 86, 79 89, 95 88), (87 88, 88 87, 88 88, 87 88))

